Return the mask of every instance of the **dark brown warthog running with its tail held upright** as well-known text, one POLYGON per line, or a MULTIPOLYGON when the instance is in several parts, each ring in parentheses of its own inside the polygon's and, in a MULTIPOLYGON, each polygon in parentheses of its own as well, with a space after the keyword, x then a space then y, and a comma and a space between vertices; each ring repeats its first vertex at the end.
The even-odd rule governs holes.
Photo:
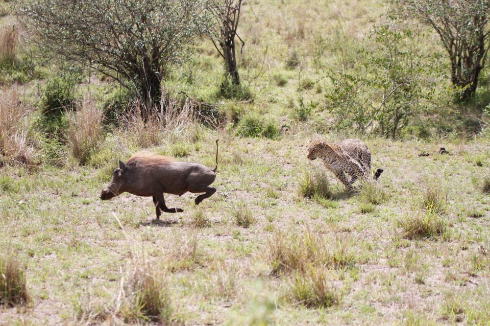
POLYGON ((198 163, 178 162, 167 156, 136 153, 126 164, 119 160, 119 168, 112 173, 112 180, 101 192, 100 198, 108 200, 124 192, 136 196, 152 196, 157 220, 159 220, 161 211, 183 212, 181 208, 168 208, 163 198, 164 193, 178 196, 186 192, 204 193, 195 198, 196 205, 205 198, 211 197, 216 192, 216 188, 209 185, 216 179, 217 168, 217 140, 214 170, 198 163))

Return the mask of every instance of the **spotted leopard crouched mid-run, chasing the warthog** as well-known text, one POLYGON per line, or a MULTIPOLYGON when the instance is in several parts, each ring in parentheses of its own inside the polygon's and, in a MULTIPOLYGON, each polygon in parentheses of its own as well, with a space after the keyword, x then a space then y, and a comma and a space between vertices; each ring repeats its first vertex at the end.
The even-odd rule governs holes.
POLYGON ((383 169, 378 169, 374 176, 371 174, 371 152, 360 139, 344 139, 338 143, 313 140, 306 157, 309 160, 322 159, 326 168, 350 191, 354 190, 353 184, 359 178, 378 180, 383 173, 383 169))

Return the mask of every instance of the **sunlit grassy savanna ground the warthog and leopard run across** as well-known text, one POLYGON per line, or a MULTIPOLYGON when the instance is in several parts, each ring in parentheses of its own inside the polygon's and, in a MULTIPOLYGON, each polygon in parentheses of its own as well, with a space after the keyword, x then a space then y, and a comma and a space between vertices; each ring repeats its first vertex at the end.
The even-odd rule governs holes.
MULTIPOLYGON (((332 133, 324 112, 315 112, 328 87, 322 69, 349 65, 355 51, 347 45, 362 40, 383 10, 370 0, 244 4, 239 67, 254 101, 223 100, 228 124, 104 126, 86 165, 72 157, 69 136, 53 148, 39 141, 36 164, 4 165, 0 246, 25 266, 30 299, 0 306, 0 324, 488 324, 488 137, 366 136, 373 169, 384 173, 352 194, 306 159, 311 138, 353 136, 332 133), (307 121, 297 119, 298 103, 315 103, 307 121), (277 126, 274 139, 237 136, 233 120, 242 115, 277 126), (117 159, 149 149, 212 168, 217 138, 217 192, 199 207, 195 195, 166 195, 167 206, 184 213, 155 221, 150 198, 97 198, 117 159), (322 179, 316 171, 329 186, 304 197, 305 183, 322 179), (131 292, 132 280, 145 275, 150 288, 163 289, 158 298, 131 292), (141 302, 155 301, 163 302, 159 321, 142 312, 141 302)), ((6 10, 0 25, 14 20, 6 10)), ((166 87, 211 102, 220 72, 206 43, 166 87)), ((35 120, 51 74, 40 66, 14 83, 5 73, 2 89, 20 94, 35 120)), ((87 80, 79 98, 102 103, 119 92, 99 77, 87 80)))

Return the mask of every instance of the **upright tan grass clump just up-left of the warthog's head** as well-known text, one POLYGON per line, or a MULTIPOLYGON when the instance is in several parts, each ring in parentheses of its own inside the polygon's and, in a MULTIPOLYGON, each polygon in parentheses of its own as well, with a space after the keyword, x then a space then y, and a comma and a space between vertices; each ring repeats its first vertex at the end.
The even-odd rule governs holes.
POLYGON ((68 118, 68 142, 71 154, 86 164, 97 150, 102 138, 103 112, 87 95, 75 113, 68 118))

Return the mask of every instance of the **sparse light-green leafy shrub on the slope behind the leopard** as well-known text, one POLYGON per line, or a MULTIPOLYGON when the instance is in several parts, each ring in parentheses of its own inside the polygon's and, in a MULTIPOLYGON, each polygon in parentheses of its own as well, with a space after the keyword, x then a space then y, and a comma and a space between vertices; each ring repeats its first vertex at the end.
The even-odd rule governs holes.
POLYGON ((373 46, 359 49, 366 72, 329 73, 333 87, 325 98, 335 130, 395 138, 414 117, 431 112, 438 62, 418 44, 419 35, 408 28, 376 26, 370 35, 373 46))

